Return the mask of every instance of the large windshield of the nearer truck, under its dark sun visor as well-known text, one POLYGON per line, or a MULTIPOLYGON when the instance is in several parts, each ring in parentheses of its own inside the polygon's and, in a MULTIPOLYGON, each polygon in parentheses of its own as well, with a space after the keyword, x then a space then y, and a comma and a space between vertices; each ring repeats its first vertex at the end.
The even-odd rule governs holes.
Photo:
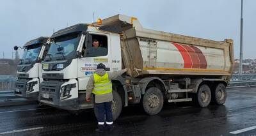
POLYGON ((79 44, 80 35, 79 33, 72 33, 52 39, 51 47, 44 61, 56 61, 76 57, 76 49, 79 44))

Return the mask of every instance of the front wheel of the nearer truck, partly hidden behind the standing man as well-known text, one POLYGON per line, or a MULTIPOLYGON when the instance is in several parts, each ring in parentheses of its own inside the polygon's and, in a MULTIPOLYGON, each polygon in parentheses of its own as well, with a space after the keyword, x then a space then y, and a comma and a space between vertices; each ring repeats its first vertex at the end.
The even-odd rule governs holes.
MULTIPOLYGON (((113 89, 113 101, 112 101, 112 114, 113 114, 113 121, 115 121, 121 114, 122 112, 122 99, 121 96, 114 91, 113 89)), ((97 108, 93 108, 95 117, 97 118, 97 108)))

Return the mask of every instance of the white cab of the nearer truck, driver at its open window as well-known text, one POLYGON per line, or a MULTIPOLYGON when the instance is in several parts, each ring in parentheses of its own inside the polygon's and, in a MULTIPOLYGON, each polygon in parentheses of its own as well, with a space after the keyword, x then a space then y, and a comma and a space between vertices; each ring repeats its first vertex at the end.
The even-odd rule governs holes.
POLYGON ((120 36, 90 24, 76 24, 53 33, 42 61, 39 101, 66 110, 93 108, 85 101, 86 85, 97 64, 109 72, 121 70, 120 36), (93 39, 99 47, 93 47, 93 39))

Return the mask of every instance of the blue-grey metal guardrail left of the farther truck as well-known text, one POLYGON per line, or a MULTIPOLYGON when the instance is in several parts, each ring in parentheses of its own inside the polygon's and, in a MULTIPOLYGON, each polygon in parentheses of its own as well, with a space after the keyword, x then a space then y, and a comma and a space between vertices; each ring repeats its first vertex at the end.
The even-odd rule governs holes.
POLYGON ((0 75, 0 96, 14 96, 16 75, 0 75))

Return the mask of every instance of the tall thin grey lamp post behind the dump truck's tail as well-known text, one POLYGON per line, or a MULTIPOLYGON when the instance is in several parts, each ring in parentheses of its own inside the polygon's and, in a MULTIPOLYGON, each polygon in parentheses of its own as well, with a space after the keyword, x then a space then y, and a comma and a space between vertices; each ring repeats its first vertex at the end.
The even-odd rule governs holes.
POLYGON ((243 0, 241 0, 241 22, 240 22, 240 62, 239 73, 243 74, 243 0))

